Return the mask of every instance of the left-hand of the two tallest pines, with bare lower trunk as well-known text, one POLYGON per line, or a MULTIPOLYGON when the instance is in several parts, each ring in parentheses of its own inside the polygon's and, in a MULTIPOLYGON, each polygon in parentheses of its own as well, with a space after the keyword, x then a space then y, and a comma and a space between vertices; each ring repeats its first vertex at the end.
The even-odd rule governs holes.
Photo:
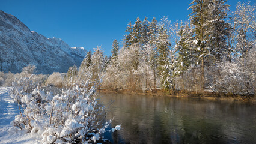
POLYGON ((204 82, 204 63, 207 56, 210 54, 207 43, 209 42, 209 33, 207 33, 207 20, 209 16, 208 5, 210 0, 193 0, 189 5, 192 13, 189 14, 189 19, 194 25, 194 44, 195 53, 197 53, 198 62, 201 61, 201 87, 205 89, 204 82))

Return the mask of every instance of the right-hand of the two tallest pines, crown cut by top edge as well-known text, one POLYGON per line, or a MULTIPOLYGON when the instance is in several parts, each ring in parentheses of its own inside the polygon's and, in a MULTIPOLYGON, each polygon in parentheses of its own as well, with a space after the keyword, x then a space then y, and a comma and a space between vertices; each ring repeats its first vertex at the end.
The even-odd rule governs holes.
POLYGON ((227 22, 227 11, 230 5, 227 0, 212 0, 208 5, 207 33, 209 34, 209 47, 214 62, 226 60, 228 52, 227 37, 231 31, 231 25, 227 22))

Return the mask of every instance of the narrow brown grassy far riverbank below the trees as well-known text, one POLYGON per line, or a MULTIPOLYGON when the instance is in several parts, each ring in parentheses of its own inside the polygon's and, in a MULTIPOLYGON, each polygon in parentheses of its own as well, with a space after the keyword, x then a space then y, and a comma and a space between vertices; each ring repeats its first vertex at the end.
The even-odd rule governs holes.
POLYGON ((229 94, 224 92, 211 92, 211 91, 170 91, 166 92, 163 89, 157 89, 156 92, 142 91, 137 89, 130 91, 129 89, 123 89, 113 91, 111 89, 97 89, 98 92, 103 93, 120 93, 120 94, 137 94, 137 95, 153 95, 153 96, 168 96, 168 97, 179 97, 179 98, 202 98, 207 100, 229 100, 229 101, 246 101, 256 104, 255 95, 242 95, 242 94, 229 94))

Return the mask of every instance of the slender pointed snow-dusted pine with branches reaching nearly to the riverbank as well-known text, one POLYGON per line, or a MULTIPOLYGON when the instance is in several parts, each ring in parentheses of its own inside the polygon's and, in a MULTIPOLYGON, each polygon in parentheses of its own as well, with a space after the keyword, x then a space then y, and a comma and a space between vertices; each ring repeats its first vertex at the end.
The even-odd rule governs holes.
POLYGON ((159 76, 160 76, 160 83, 162 88, 166 91, 169 91, 172 86, 172 79, 171 79, 171 68, 169 65, 169 36, 166 34, 166 29, 161 26, 159 30, 159 34, 157 37, 157 52, 159 53, 158 56, 158 64, 159 64, 159 76))

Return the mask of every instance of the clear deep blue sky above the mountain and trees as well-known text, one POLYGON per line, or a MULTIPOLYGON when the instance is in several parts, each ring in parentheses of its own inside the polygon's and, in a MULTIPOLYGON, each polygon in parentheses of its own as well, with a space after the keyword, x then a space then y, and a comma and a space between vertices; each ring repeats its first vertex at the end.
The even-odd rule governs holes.
MULTIPOLYGON (((31 31, 46 37, 57 37, 71 47, 93 50, 102 46, 111 54, 112 41, 123 40, 127 23, 136 17, 151 21, 168 16, 169 20, 186 20, 192 0, 84 0, 84 1, 35 1, 0 0, 0 9, 16 16, 31 31)), ((234 10, 239 0, 228 0, 234 10)), ((242 1, 247 2, 247 1, 242 1)), ((255 3, 255 0, 251 0, 255 3)))

